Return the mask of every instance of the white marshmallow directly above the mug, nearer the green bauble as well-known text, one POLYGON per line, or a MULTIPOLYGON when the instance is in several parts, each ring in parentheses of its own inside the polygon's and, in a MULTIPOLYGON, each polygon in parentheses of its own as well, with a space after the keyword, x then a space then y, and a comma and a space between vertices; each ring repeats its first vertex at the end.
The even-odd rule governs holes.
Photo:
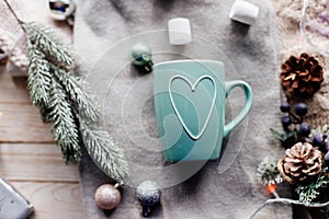
POLYGON ((175 18, 168 21, 169 43, 185 45, 192 42, 191 24, 189 19, 175 18))

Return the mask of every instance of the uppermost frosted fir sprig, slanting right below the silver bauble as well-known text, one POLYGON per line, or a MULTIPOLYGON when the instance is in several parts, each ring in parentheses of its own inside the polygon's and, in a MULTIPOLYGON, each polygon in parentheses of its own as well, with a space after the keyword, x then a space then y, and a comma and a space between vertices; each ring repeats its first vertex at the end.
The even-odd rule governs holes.
POLYGON ((50 60, 57 61, 60 66, 71 67, 75 59, 63 41, 54 33, 53 30, 35 22, 24 22, 23 27, 26 32, 27 39, 35 47, 43 51, 50 60))

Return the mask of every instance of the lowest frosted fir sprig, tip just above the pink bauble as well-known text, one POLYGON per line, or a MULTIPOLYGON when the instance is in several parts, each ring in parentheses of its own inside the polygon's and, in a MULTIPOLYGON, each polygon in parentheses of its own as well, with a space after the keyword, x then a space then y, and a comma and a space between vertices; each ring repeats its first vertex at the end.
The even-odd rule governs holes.
POLYGON ((123 183, 128 174, 128 163, 117 142, 107 131, 83 120, 83 118, 80 118, 80 129, 84 147, 92 160, 107 175, 123 183))

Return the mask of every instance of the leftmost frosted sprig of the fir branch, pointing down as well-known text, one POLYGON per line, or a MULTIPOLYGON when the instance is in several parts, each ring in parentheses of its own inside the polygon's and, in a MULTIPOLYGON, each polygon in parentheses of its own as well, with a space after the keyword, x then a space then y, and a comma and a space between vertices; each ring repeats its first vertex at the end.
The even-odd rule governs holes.
POLYGON ((33 104, 45 106, 49 103, 52 76, 45 56, 32 44, 27 44, 29 71, 27 89, 33 104))

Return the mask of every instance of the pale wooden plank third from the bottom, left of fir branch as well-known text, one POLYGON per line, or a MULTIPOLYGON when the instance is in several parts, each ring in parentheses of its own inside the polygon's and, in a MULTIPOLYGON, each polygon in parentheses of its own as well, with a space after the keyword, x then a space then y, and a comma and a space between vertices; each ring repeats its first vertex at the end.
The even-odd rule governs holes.
POLYGON ((0 142, 54 142, 50 125, 43 124, 32 105, 0 104, 0 142))

